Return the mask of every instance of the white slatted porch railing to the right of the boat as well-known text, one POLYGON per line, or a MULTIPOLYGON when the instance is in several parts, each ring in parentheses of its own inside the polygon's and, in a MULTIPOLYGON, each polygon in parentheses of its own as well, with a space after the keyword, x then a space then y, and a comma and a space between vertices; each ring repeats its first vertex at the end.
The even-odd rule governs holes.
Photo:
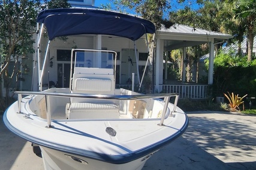
POLYGON ((179 93, 179 98, 205 99, 208 85, 159 85, 163 92, 179 93))

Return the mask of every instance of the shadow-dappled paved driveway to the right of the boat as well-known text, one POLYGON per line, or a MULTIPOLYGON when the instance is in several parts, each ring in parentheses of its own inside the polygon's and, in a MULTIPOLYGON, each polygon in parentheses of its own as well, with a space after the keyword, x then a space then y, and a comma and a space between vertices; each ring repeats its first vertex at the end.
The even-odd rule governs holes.
POLYGON ((207 111, 187 114, 185 134, 155 153, 143 170, 256 169, 256 116, 207 111))

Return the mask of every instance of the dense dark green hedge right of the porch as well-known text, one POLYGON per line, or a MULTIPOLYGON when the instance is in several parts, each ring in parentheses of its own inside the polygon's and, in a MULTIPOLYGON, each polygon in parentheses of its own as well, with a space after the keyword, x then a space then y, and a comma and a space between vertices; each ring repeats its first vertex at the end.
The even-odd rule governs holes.
MULTIPOLYGON (((256 60, 248 62, 247 57, 219 52, 214 59, 213 97, 226 91, 256 96, 256 60)), ((209 61, 206 61, 208 68, 209 61)))

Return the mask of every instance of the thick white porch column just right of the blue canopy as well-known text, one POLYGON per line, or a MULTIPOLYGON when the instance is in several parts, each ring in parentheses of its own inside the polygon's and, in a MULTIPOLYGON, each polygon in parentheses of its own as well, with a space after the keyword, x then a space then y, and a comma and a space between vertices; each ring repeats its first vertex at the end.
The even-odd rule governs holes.
POLYGON ((162 72, 164 60, 164 41, 161 39, 156 39, 156 57, 155 57, 155 91, 162 91, 159 84, 162 84, 162 72))

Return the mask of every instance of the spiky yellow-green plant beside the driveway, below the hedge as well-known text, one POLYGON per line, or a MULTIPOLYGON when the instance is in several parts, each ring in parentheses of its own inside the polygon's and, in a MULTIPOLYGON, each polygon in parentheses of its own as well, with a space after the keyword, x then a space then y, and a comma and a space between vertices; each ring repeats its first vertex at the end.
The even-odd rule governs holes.
POLYGON ((238 94, 234 95, 233 92, 231 92, 231 94, 230 92, 228 92, 228 95, 224 93, 224 95, 225 97, 227 97, 228 101, 230 102, 228 106, 230 107, 231 112, 235 112, 236 110, 240 111, 239 105, 243 103, 243 98, 247 96, 246 94, 243 97, 238 97, 238 94))

